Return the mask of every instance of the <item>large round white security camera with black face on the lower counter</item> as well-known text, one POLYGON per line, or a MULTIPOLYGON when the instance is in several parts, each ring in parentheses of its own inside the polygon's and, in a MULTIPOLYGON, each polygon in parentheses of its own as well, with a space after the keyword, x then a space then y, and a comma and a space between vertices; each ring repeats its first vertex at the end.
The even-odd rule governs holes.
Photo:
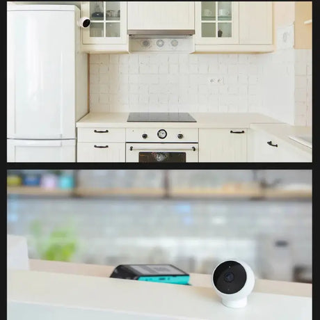
POLYGON ((223 305, 244 307, 247 296, 253 291, 255 275, 253 270, 239 259, 229 259, 216 266, 212 273, 212 285, 223 305))

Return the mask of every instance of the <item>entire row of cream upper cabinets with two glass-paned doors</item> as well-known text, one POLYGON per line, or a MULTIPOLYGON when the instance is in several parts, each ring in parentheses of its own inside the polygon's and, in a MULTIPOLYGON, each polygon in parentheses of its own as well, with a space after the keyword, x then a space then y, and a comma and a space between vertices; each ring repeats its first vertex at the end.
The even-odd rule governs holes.
POLYGON ((86 52, 128 52, 128 30, 195 30, 194 51, 273 51, 272 1, 84 1, 86 52))

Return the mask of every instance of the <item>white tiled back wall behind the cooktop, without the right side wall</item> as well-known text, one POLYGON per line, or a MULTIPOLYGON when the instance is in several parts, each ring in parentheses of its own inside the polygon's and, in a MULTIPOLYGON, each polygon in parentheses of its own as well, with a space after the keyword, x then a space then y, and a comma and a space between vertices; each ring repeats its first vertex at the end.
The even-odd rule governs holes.
POLYGON ((257 92, 255 54, 90 54, 90 111, 250 112, 257 92))

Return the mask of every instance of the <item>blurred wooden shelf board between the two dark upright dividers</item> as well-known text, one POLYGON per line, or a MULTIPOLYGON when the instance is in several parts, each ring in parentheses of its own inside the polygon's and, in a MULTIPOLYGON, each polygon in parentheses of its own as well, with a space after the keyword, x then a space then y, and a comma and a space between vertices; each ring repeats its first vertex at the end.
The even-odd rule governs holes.
POLYGON ((81 197, 103 197, 109 195, 161 197, 166 191, 162 188, 76 188, 74 194, 81 197))

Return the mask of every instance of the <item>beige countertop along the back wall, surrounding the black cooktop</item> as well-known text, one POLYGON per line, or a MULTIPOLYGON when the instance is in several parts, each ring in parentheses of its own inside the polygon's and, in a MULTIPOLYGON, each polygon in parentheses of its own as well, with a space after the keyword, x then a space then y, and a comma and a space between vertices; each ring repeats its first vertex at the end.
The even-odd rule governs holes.
POLYGON ((249 128, 251 124, 281 123, 259 113, 190 113, 197 122, 127 122, 129 113, 88 113, 77 122, 77 127, 113 128, 249 128))

